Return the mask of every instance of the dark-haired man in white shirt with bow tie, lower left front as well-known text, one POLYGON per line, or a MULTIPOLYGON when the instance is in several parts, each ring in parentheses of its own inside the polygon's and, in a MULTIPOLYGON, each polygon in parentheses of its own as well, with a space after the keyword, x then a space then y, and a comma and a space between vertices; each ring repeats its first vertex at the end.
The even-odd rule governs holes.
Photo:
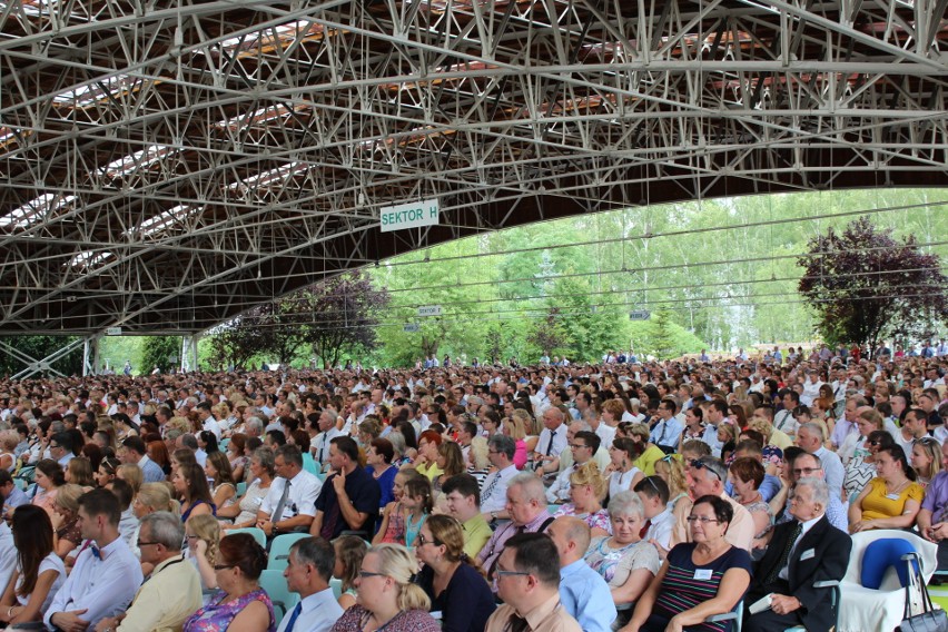
POLYGON ((52 598, 43 623, 63 632, 85 632, 107 616, 124 612, 138 586, 141 565, 119 536, 121 511, 108 490, 79 496, 79 531, 91 540, 76 559, 69 579, 52 598))

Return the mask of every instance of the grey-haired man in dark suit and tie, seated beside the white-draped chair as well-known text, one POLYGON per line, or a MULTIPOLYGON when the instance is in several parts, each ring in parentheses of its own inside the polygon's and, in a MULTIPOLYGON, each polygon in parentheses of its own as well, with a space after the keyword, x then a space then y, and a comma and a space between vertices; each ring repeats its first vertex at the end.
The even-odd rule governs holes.
POLYGON ((836 624, 832 589, 816 582, 842 580, 852 552, 849 534, 832 526, 826 516, 829 501, 821 478, 797 481, 790 495, 793 521, 779 524, 763 557, 754 569, 744 598, 744 632, 771 632, 803 625, 808 632, 826 632, 836 624), (750 606, 772 595, 768 610, 750 613, 750 606))

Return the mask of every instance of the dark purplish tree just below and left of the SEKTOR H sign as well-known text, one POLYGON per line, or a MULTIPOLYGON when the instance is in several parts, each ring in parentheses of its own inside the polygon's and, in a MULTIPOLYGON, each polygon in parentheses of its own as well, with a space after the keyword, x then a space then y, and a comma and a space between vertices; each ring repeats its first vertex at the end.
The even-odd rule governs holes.
POLYGON ((304 339, 325 368, 336 366, 344 353, 369 353, 378 346, 375 329, 389 296, 362 270, 317 283, 302 295, 308 310, 304 339))

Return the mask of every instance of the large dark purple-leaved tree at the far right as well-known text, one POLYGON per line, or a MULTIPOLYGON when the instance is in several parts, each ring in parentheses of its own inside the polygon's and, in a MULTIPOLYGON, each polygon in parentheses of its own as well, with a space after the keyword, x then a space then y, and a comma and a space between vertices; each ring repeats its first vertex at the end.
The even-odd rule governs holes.
POLYGON ((877 344, 891 335, 921 335, 948 314, 948 278, 937 255, 914 236, 901 243, 869 219, 830 228, 808 244, 799 292, 817 314, 828 344, 877 344))

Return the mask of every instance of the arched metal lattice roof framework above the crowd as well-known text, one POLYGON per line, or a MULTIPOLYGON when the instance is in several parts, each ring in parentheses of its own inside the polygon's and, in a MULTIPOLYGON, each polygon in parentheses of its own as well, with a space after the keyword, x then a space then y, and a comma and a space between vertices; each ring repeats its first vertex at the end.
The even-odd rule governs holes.
POLYGON ((946 4, 0 2, 0 334, 194 334, 484 230, 948 185, 946 4))

